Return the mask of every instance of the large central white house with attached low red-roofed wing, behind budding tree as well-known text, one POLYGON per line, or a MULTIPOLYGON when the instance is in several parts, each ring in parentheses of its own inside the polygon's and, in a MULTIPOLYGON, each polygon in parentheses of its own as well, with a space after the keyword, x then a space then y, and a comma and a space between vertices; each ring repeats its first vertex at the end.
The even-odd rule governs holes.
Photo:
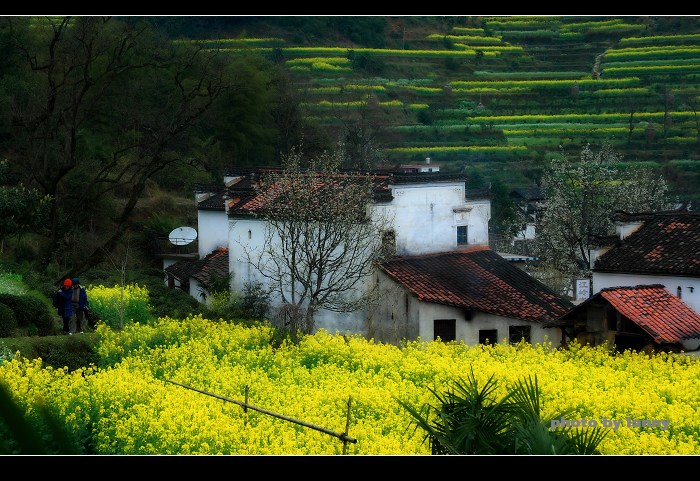
MULTIPOLYGON (((201 260, 167 267, 172 284, 206 302, 203 275, 195 272, 219 273, 225 257, 233 292, 265 282, 246 252, 262 242, 266 229, 266 222, 255 215, 260 205, 256 183, 274 170, 279 169, 232 170, 223 185, 205 186, 196 193, 201 260)), ((472 197, 464 176, 390 171, 373 175, 371 212, 391 220, 383 235, 391 239, 396 254, 364 283, 382 293, 381 302, 353 312, 321 310, 315 316, 316 328, 392 343, 403 338, 469 344, 561 338, 558 328, 543 326, 570 304, 488 248, 490 200, 472 197), (403 276, 404 271, 411 275, 403 276), (429 282, 416 284, 420 278, 429 282)), ((274 307, 279 305, 273 301, 274 307)), ((274 323, 274 312, 269 315, 274 323)))

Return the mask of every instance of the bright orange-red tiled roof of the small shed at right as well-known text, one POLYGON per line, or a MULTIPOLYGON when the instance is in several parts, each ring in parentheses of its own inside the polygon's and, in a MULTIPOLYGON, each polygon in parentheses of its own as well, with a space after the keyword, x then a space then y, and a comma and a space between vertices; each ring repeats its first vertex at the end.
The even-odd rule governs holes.
POLYGON ((700 315, 662 285, 610 287, 598 294, 658 343, 700 338, 700 315))

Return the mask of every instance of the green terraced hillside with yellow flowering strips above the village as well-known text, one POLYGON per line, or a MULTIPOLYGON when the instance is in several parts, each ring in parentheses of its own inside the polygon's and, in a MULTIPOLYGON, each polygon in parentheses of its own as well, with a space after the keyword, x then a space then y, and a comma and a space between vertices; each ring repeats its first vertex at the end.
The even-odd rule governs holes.
POLYGON ((283 63, 309 119, 361 124, 389 163, 526 185, 560 146, 609 141, 700 200, 700 17, 388 17, 381 48, 275 34, 209 46, 283 63))

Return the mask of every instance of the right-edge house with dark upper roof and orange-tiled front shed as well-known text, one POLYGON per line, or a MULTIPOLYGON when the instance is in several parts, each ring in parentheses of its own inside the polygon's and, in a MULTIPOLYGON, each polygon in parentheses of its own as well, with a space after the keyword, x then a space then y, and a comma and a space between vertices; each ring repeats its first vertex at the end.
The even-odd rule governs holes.
POLYGON ((615 224, 617 235, 591 248, 593 295, 548 325, 563 342, 697 352, 700 215, 619 212, 615 224))

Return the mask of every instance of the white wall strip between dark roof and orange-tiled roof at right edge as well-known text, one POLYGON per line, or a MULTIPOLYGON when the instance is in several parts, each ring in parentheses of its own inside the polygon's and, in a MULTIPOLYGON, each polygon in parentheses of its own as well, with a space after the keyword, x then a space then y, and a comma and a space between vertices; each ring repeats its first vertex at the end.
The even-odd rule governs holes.
POLYGON ((610 272, 593 272, 593 294, 606 287, 638 286, 661 284, 674 296, 681 288, 681 300, 700 314, 700 279, 697 277, 660 276, 640 274, 620 274, 610 272), (691 292, 691 289, 693 292, 691 292))

